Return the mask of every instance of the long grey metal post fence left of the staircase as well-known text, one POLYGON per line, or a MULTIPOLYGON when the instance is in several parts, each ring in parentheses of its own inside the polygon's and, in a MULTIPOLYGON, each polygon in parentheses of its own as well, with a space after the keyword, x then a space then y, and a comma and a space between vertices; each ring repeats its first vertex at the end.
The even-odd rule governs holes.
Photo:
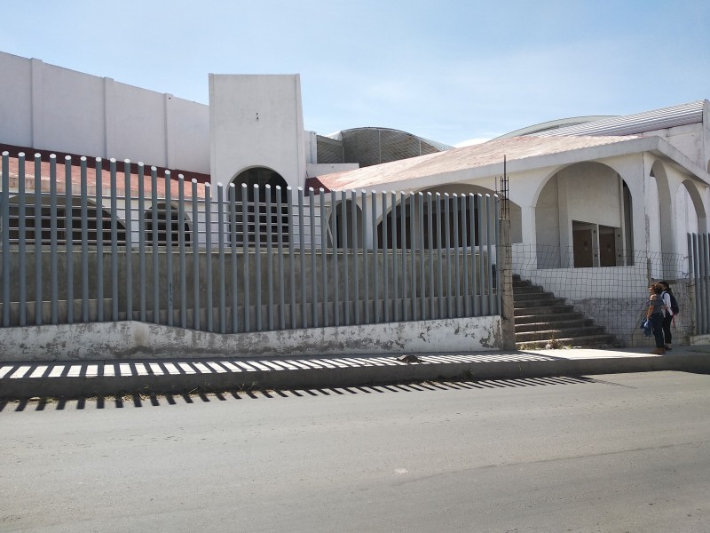
POLYGON ((216 187, 2 155, 2 326, 260 330, 500 314, 490 195, 216 187))

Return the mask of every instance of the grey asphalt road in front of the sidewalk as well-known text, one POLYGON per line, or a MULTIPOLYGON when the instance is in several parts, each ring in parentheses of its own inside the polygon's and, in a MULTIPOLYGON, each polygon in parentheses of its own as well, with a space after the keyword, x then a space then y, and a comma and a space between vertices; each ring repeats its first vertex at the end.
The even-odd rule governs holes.
POLYGON ((0 408, 0 531, 710 531, 708 375, 0 408))

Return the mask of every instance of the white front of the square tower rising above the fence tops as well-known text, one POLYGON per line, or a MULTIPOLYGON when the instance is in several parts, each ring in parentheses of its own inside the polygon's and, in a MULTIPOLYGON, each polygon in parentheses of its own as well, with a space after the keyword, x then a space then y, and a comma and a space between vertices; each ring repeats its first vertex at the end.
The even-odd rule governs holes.
POLYGON ((298 75, 209 75, 213 183, 266 167, 291 187, 305 182, 304 117, 298 75))

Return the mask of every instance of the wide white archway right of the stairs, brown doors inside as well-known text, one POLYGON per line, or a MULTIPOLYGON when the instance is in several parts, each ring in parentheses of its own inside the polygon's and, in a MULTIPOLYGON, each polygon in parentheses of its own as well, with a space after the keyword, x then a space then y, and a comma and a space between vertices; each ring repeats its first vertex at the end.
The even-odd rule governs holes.
POLYGON ((538 268, 634 263, 633 205, 619 173, 576 163, 553 174, 535 204, 538 268))

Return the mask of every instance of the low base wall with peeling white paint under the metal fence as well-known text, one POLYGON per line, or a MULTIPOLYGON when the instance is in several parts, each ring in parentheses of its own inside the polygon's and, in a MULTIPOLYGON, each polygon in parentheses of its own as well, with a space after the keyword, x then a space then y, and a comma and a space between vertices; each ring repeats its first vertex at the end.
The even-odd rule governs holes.
POLYGON ((481 352, 503 347, 501 316, 221 335, 143 322, 0 329, 0 362, 481 352))

